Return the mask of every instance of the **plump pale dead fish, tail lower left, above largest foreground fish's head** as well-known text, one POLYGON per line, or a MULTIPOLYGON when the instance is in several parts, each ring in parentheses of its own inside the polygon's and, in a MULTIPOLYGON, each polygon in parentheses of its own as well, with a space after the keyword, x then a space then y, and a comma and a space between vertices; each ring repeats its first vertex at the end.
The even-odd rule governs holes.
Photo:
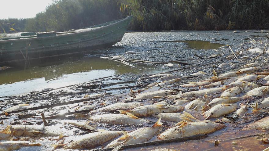
POLYGON ((202 115, 206 117, 205 119, 212 117, 221 117, 223 115, 232 113, 236 110, 237 104, 217 104, 205 111, 202 115))

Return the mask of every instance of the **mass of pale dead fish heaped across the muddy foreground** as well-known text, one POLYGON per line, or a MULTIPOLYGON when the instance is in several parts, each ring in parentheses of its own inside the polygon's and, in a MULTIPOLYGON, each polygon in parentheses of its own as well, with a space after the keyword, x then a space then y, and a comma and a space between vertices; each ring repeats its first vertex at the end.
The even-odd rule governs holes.
MULTIPOLYGON (((97 129, 86 120, 84 122, 70 121, 67 124, 94 132, 74 136, 72 138, 73 141, 60 142, 59 140, 63 137, 70 135, 68 131, 63 131, 60 128, 51 130, 41 125, 9 125, 0 132, 0 140, 2 141, 0 142, 0 148, 2 150, 13 150, 23 146, 41 145, 40 143, 30 142, 29 140, 22 140, 20 139, 22 136, 24 138, 59 136, 53 146, 63 149, 93 149, 110 141, 106 147, 116 147, 116 150, 124 145, 148 142, 156 135, 158 139, 168 139, 213 133, 224 128, 225 124, 223 123, 243 119, 246 113, 267 111, 263 110, 263 108, 269 107, 269 86, 266 85, 269 82, 269 72, 263 72, 260 70, 260 67, 252 67, 253 65, 255 64, 248 64, 245 66, 247 68, 220 75, 213 72, 214 75, 211 78, 182 84, 180 87, 183 89, 199 88, 197 91, 185 93, 167 88, 171 84, 182 81, 180 77, 172 74, 152 75, 150 78, 155 78, 157 81, 148 84, 146 88, 141 90, 142 92, 131 92, 130 97, 125 97, 125 102, 118 102, 92 110, 87 117, 92 122, 113 125, 147 124, 150 122, 147 119, 148 117, 156 118, 157 122, 150 127, 138 128, 134 131, 108 131, 97 129), (156 88, 160 90, 156 91, 156 88), (263 100, 260 102, 252 101, 251 98, 256 97, 263 100), (161 101, 154 104, 138 101, 152 98, 171 100, 174 104, 169 104, 168 101, 161 101), (250 111, 249 106, 252 108, 252 111, 250 111), (204 116, 204 119, 198 120, 190 112, 198 113, 204 116), (222 122, 217 123, 212 121, 215 121, 219 117, 222 122), (162 121, 176 123, 172 127, 166 128, 165 131, 159 132, 162 121)), ((204 74, 206 73, 201 71, 192 75, 204 74)), ((28 107, 30 105, 21 104, 6 109, 5 112, 8 113, 28 107)), ((80 106, 76 110, 81 110, 82 108, 88 109, 91 106, 80 106)), ((244 129, 269 130, 269 117, 245 125, 244 129)))

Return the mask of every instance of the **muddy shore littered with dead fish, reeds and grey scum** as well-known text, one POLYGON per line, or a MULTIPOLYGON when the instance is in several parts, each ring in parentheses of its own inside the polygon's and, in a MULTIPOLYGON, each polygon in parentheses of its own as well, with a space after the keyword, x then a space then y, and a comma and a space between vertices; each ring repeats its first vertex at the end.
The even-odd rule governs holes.
POLYGON ((2 96, 0 143, 20 141, 13 142, 21 150, 263 150, 269 147, 267 35, 127 33, 94 56, 130 72, 2 96), (141 41, 132 43, 136 35, 141 41), (154 72, 131 72, 143 66, 154 72))

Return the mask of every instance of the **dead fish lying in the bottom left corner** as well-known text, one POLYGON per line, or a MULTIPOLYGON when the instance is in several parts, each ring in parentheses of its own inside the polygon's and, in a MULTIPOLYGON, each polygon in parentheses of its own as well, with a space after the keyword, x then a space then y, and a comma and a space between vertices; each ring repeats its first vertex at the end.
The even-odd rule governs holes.
POLYGON ((17 150, 22 147, 28 146, 41 146, 39 143, 32 143, 29 141, 7 141, 7 142, 0 142, 0 151, 11 151, 17 150))

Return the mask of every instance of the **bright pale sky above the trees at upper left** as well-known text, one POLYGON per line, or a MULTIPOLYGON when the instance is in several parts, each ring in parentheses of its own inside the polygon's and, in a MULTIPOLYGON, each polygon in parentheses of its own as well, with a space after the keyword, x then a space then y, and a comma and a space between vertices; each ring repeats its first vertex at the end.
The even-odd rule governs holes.
POLYGON ((0 0, 0 19, 32 18, 54 0, 0 0))

